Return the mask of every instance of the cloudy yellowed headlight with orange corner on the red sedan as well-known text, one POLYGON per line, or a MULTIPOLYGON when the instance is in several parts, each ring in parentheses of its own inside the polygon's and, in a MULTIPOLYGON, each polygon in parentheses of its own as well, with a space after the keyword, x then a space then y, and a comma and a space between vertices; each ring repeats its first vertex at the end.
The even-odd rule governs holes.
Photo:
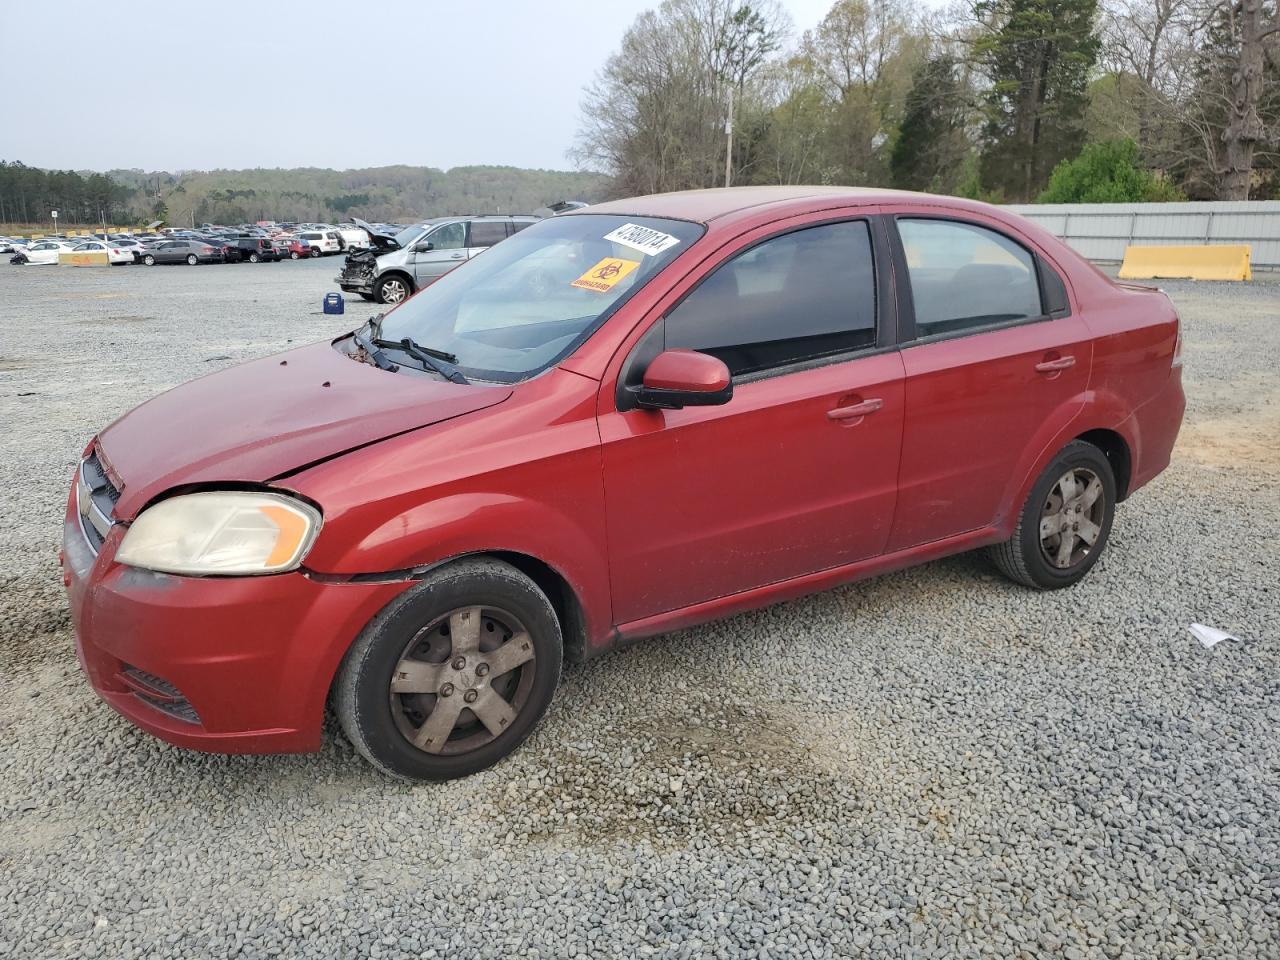
POLYGON ((120 563, 192 576, 294 570, 320 532, 320 512, 276 493, 189 493, 142 511, 120 563))

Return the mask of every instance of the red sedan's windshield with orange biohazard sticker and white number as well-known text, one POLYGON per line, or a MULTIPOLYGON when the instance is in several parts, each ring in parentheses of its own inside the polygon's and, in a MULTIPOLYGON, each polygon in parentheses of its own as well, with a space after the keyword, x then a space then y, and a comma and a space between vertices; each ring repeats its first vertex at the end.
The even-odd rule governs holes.
POLYGON ((543 220, 392 310, 380 337, 452 353, 470 379, 524 380, 564 357, 701 233, 645 216, 543 220))

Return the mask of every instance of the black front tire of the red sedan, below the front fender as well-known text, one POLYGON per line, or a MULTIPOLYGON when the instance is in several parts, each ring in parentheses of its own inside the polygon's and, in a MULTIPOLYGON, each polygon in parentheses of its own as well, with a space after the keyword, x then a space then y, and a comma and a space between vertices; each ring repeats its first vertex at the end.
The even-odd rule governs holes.
MULTIPOLYGON (((343 658, 333 707, 347 739, 384 773, 411 781, 454 780, 492 767, 525 741, 556 694, 562 657, 556 611, 532 580, 497 559, 462 559, 406 590, 365 627, 343 658), (483 608, 483 613, 474 620, 448 618, 451 612, 466 611, 470 616, 475 608, 483 608), (440 628, 442 617, 448 618, 449 630, 440 628), (502 620, 518 620, 522 630, 504 635, 502 620), (461 626, 452 628, 454 622, 475 625, 477 632, 471 640, 477 645, 475 654, 458 654, 453 637, 463 635, 461 626), (492 649, 484 653, 486 643, 492 649), (439 645, 443 649, 436 649, 439 645), (483 678, 484 658, 515 645, 530 659, 483 678), (411 657, 415 653, 422 659, 411 657), (465 663, 467 657, 471 660, 465 663), (398 667, 411 660, 439 671, 436 678, 445 682, 438 684, 436 692, 392 690, 393 680, 401 682, 408 676, 398 672, 398 667), (500 685, 506 685, 506 692, 500 685), (445 687, 449 692, 444 692, 445 687), (484 700, 477 699, 477 691, 484 700), (463 703, 444 699, 449 696, 481 704, 494 704, 493 698, 498 696, 513 716, 503 717, 499 724, 490 713, 490 719, 481 722, 479 713, 471 713, 463 703), (445 707, 452 708, 445 714, 458 718, 448 722, 457 726, 444 727, 445 740, 436 745, 443 753, 428 753, 410 737, 425 736, 430 718, 445 707), (489 728, 490 722, 500 732, 489 728)), ((484 671, 488 673, 489 667, 484 671)))

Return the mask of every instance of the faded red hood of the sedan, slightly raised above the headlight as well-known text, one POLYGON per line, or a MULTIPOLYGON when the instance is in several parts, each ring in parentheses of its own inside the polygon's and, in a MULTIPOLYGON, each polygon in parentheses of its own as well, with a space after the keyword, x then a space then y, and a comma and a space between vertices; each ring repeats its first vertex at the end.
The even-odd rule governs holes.
POLYGON ((97 445, 120 488, 115 515, 132 520, 172 488, 275 480, 511 393, 379 370, 325 342, 163 393, 102 430, 97 445))

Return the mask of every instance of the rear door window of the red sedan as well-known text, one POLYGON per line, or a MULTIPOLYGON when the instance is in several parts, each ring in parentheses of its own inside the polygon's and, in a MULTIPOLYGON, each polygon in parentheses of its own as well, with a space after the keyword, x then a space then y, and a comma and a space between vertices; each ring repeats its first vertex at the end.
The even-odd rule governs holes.
POLYGON ((957 220, 897 221, 915 335, 964 333, 1043 315, 1036 261, 1001 233, 957 220))

